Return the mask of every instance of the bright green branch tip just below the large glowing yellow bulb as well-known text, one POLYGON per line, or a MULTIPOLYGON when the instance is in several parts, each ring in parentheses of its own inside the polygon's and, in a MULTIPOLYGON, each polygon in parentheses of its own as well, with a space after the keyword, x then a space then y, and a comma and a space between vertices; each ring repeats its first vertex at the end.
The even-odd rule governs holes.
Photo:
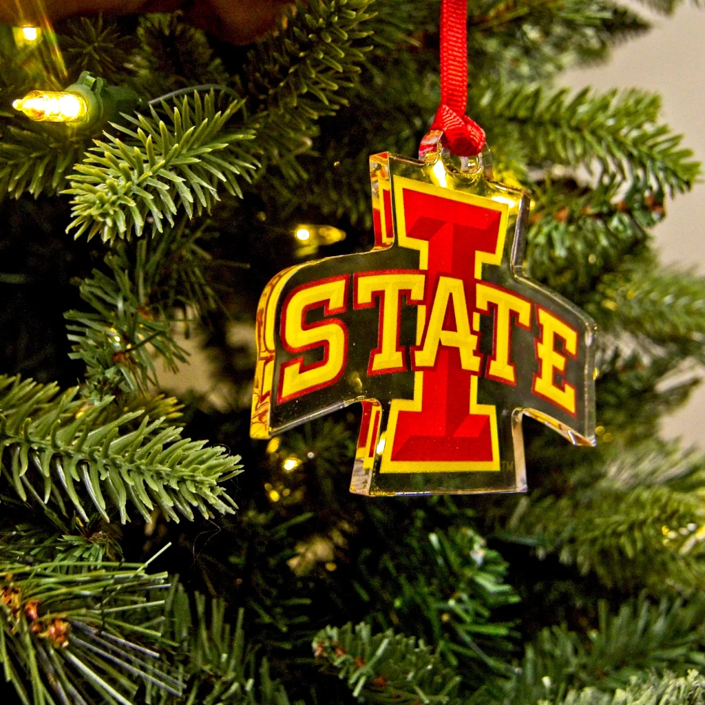
POLYGON ((173 226, 173 215, 182 207, 191 218, 209 212, 218 200, 217 183, 233 194, 241 194, 237 178, 249 180, 254 164, 233 143, 251 140, 250 130, 221 134, 228 120, 243 103, 231 103, 216 112, 213 92, 201 100, 195 91, 184 97, 181 109, 163 109, 171 130, 154 107, 151 117, 125 116, 136 129, 113 125, 127 135, 125 142, 106 133, 109 142, 96 142, 78 173, 71 176, 73 221, 67 230, 88 239, 100 233, 104 242, 142 235, 145 223, 152 222, 152 235, 164 231, 166 219, 173 226), (228 149, 228 154, 223 150, 228 149))

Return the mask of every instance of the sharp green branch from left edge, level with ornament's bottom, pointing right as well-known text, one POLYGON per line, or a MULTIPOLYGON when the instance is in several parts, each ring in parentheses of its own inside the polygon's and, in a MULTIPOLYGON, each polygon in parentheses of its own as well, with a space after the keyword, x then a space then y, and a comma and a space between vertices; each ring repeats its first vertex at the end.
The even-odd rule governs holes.
MULTIPOLYGON (((97 423, 112 398, 92 403, 78 388, 59 394, 56 384, 0 377, 2 475, 22 501, 49 503, 64 515, 73 505, 84 521, 85 506, 109 521, 117 509, 128 520, 128 501, 149 520, 159 508, 178 521, 212 510, 232 513, 233 500, 219 486, 237 474, 237 456, 204 441, 182 439, 180 429, 142 411, 97 423), (140 418, 135 430, 126 424, 140 418), (123 433, 121 434, 121 431, 123 433), (125 432, 127 431, 127 432, 125 432)), ((51 511, 51 508, 49 508, 51 511)))

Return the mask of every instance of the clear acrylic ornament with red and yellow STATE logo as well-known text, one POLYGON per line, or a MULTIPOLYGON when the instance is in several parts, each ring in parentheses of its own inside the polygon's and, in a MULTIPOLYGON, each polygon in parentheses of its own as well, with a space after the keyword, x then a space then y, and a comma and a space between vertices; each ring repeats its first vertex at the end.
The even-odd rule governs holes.
POLYGON ((259 302, 252 437, 360 402, 357 494, 524 491, 525 415, 595 443, 593 321, 522 276, 527 195, 440 139, 370 158, 373 250, 259 302))

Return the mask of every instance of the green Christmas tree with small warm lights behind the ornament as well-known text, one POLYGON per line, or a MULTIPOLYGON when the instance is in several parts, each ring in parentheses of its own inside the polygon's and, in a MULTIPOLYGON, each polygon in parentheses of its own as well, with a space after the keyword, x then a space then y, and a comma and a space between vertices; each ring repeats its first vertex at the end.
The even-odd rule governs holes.
POLYGON ((255 315, 281 269, 374 244, 368 157, 429 128, 439 3, 300 0, 245 46, 179 12, 0 27, 5 702, 705 701, 705 458, 658 438, 705 282, 650 235, 699 166, 658 96, 555 85, 648 29, 469 4, 525 270, 599 326, 599 443, 525 420, 527 494, 373 499, 348 493, 359 405, 250 440, 255 315), (78 81, 104 96, 78 126, 13 108, 78 81), (162 391, 184 338, 217 408, 162 391))

